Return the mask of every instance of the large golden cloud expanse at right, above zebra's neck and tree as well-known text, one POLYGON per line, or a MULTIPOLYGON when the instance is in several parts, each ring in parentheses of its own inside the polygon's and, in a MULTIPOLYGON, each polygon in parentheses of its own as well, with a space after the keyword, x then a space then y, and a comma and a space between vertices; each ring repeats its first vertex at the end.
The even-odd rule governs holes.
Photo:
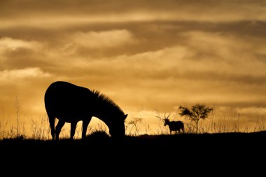
POLYGON ((224 34, 186 35, 187 43, 171 48, 94 60, 81 57, 83 64, 70 64, 73 67, 63 75, 73 83, 88 83, 109 93, 133 110, 144 105, 171 111, 183 102, 231 107, 253 106, 256 101, 265 104, 265 66, 252 62, 252 54, 238 57, 241 48, 252 46, 224 34))

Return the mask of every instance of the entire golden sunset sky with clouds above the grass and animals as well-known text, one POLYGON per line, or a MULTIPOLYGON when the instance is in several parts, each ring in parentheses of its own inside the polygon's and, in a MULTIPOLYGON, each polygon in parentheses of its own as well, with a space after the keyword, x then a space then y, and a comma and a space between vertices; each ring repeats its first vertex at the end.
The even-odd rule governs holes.
POLYGON ((131 118, 266 120, 265 0, 2 0, 0 118, 45 115, 44 93, 65 80, 99 90, 131 118))

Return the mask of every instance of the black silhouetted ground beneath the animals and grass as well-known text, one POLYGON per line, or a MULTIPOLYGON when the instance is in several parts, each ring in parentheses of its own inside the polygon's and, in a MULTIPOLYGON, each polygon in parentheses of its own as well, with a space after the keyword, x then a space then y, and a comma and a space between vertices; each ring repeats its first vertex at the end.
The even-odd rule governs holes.
POLYGON ((64 171, 101 167, 99 173, 106 172, 109 167, 122 168, 127 173, 140 169, 153 173, 156 170, 169 173, 186 169, 187 173, 193 173, 196 169, 216 169, 223 173, 250 171, 252 166, 258 167, 252 171, 265 169, 265 141, 266 132, 126 136, 123 141, 97 133, 85 140, 73 141, 4 139, 0 141, 0 152, 2 167, 45 165, 47 169, 63 167, 64 171))

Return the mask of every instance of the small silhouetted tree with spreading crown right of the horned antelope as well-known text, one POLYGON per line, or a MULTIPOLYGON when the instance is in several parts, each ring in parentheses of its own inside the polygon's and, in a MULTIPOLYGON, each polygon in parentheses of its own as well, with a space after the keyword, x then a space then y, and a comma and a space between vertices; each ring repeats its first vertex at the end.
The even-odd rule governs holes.
POLYGON ((199 121, 205 120, 209 113, 214 110, 214 108, 207 107, 204 104, 195 104, 191 109, 179 106, 181 113, 179 115, 186 116, 191 121, 196 123, 196 132, 198 132, 199 121))

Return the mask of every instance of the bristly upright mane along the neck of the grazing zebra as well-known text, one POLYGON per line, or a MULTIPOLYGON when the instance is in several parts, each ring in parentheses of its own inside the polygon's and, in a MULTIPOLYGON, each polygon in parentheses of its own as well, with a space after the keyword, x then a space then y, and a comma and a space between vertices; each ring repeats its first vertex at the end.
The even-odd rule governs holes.
POLYGON ((122 111, 122 109, 109 97, 107 97, 105 94, 102 94, 99 92, 99 90, 92 90, 92 93, 97 98, 97 101, 99 106, 103 106, 104 108, 110 110, 110 111, 117 111, 117 113, 121 113, 125 115, 125 113, 122 111))

